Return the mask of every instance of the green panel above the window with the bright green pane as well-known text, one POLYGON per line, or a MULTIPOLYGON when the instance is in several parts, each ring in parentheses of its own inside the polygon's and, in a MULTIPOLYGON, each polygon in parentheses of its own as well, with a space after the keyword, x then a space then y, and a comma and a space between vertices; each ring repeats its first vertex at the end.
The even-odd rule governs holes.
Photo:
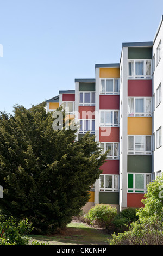
POLYGON ((152 173, 152 156, 128 155, 127 172, 152 173))

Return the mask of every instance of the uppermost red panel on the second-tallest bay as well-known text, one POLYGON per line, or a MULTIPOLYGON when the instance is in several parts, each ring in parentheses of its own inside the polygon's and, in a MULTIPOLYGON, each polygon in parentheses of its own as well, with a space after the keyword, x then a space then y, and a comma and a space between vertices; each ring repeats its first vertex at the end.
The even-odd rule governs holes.
POLYGON ((120 96, 99 95, 99 109, 120 109, 120 96))

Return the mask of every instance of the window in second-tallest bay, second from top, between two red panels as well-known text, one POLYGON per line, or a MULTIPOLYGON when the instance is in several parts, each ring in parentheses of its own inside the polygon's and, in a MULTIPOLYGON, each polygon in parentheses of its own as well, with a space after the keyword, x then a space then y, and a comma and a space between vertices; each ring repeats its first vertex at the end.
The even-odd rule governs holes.
POLYGON ((104 110, 100 111, 100 126, 119 126, 119 111, 104 110))

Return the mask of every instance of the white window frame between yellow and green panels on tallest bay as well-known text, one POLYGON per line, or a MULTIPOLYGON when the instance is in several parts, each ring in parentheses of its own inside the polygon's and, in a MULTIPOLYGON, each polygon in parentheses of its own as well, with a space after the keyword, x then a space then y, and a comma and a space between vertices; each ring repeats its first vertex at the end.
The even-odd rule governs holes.
POLYGON ((128 146, 127 146, 127 149, 128 149, 128 155, 152 155, 152 135, 128 135, 128 146), (133 150, 129 150, 129 136, 133 136, 133 150), (135 148, 135 138, 136 136, 142 136, 143 137, 143 146, 144 146, 144 150, 143 151, 139 151, 139 150, 136 150, 135 148), (146 137, 151 137, 151 150, 150 151, 146 151, 146 137))

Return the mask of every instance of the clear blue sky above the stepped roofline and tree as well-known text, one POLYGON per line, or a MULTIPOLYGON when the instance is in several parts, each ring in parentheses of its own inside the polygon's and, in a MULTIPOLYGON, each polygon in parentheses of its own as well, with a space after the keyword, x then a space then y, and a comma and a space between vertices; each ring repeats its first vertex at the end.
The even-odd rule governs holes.
POLYGON ((153 41, 162 0, 0 0, 0 111, 30 108, 118 63, 122 42, 153 41))

